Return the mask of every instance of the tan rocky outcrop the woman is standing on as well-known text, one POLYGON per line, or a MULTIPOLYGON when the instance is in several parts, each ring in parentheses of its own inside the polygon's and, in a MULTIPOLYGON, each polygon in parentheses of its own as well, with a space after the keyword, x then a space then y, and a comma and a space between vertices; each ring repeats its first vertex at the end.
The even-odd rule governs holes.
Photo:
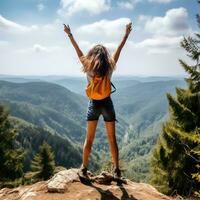
POLYGON ((48 181, 14 189, 0 190, 0 200, 171 200, 146 183, 128 179, 114 180, 112 174, 102 172, 83 182, 78 169, 63 170, 48 181))

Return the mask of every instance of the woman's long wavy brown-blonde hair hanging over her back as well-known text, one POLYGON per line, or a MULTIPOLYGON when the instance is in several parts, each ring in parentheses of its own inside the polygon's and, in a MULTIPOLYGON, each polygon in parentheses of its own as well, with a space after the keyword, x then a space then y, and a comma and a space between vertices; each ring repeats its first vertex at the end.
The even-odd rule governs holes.
POLYGON ((114 60, 111 59, 106 47, 101 44, 97 44, 90 49, 87 55, 82 58, 82 63, 84 63, 83 72, 93 72, 99 76, 105 76, 109 71, 115 69, 114 60))

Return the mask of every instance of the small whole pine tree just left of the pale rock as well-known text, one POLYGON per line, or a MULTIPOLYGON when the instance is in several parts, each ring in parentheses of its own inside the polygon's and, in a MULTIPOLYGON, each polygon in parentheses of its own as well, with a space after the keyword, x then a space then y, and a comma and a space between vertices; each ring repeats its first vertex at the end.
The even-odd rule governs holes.
POLYGON ((34 178, 36 180, 47 180, 53 175, 55 160, 50 145, 44 142, 39 147, 39 152, 34 156, 31 162, 31 169, 35 172, 34 178))

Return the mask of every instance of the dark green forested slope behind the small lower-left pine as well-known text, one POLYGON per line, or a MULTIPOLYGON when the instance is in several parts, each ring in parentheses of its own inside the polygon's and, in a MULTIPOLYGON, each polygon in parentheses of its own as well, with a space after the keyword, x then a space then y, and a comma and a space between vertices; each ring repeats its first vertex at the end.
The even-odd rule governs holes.
MULTIPOLYGON (((62 138, 59 135, 53 135, 51 132, 44 130, 42 127, 28 123, 16 117, 10 117, 13 128, 17 130, 16 141, 19 147, 22 147, 25 152, 24 172, 30 170, 30 163, 33 156, 38 153, 39 146, 43 142, 47 142, 55 154, 55 162, 57 166, 79 167, 82 162, 82 150, 80 145, 76 145, 67 138, 62 138)), ((92 160, 94 156, 92 155, 92 160)), ((98 167, 95 162, 94 167, 98 167)))

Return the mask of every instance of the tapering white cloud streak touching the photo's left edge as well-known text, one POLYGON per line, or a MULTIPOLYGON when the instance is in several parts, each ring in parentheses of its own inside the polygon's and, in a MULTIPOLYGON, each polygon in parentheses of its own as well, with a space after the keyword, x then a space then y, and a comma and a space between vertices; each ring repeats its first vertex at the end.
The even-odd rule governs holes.
POLYGON ((38 26, 32 25, 32 26, 24 26, 18 23, 15 23, 11 20, 8 20, 4 18, 2 15, 0 15, 0 30, 2 31, 8 31, 10 33, 26 33, 33 30, 37 30, 38 26))

